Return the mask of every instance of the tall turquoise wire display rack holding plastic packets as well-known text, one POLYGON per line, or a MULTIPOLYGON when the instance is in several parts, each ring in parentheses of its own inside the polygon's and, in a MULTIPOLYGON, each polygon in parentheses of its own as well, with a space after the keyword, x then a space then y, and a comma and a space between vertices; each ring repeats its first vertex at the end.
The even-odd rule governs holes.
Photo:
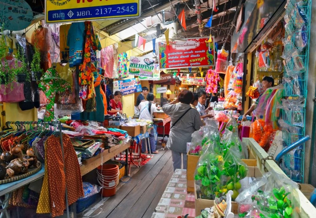
MULTIPOLYGON (((305 98, 304 108, 300 111, 283 110, 283 120, 290 128, 296 127, 298 119, 301 121, 301 133, 295 134, 291 129, 283 128, 283 148, 293 143, 296 137, 305 135, 306 121, 306 97, 307 97, 307 81, 308 81, 308 58, 309 58, 309 42, 310 42, 310 24, 311 24, 311 4, 312 0, 300 2, 289 0, 285 11, 285 39, 287 44, 284 46, 283 55, 286 60, 284 67, 284 96, 287 97, 303 97, 305 98), (298 7, 299 6, 299 7, 298 7), (307 20, 302 19, 301 14, 305 14, 307 20), (298 43, 301 34, 307 35, 307 44, 304 47, 298 43)), ((284 173, 296 182, 304 181, 304 151, 305 146, 295 150, 294 153, 288 153, 284 156, 284 173), (296 152, 296 153, 295 153, 296 152), (299 154, 298 154, 299 152, 299 154)))

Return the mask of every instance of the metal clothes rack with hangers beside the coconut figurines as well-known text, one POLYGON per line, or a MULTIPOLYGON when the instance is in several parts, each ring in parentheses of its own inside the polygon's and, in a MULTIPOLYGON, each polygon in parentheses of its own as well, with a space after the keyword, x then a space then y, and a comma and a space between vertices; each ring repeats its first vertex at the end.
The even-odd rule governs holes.
MULTIPOLYGON (((34 125, 34 124, 37 124, 37 126, 43 126, 44 128, 47 127, 47 125, 48 125, 48 127, 52 126, 52 125, 58 126, 59 140, 60 140, 60 145, 61 145, 61 152, 62 152, 62 157, 63 157, 63 163, 65 162, 65 159, 64 159, 64 145, 63 145, 63 133, 62 133, 61 122, 59 122, 59 121, 48 121, 48 122, 45 122, 45 121, 22 121, 22 122, 20 122, 20 121, 15 121, 15 122, 14 121, 7 121, 5 124, 6 124, 7 127, 10 126, 12 129, 13 129, 13 127, 11 125, 15 125, 16 127, 18 127, 18 130, 26 129, 25 125, 29 125, 29 127, 31 128, 31 126, 34 125)), ((51 130, 51 129, 49 129, 49 130, 51 130)), ((64 173, 66 175, 65 164, 64 164, 64 173)), ((69 218, 70 214, 69 214, 69 206, 68 206, 67 184, 66 184, 65 187, 66 187, 65 188, 66 212, 67 212, 67 218, 69 218)))

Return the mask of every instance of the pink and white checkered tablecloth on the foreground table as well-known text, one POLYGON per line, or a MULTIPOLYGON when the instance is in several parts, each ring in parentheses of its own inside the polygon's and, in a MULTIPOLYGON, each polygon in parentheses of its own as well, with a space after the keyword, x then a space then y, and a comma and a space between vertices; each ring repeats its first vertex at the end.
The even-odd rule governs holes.
POLYGON ((186 170, 177 169, 151 218, 184 217, 186 214, 189 214, 187 218, 194 218, 194 200, 194 193, 186 192, 186 170))

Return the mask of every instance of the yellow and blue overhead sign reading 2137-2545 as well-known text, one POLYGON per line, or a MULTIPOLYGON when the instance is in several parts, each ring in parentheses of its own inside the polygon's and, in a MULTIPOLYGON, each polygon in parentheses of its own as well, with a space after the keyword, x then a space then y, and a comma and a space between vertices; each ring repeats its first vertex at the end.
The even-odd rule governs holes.
POLYGON ((46 23, 135 18, 141 0, 46 0, 46 23))

